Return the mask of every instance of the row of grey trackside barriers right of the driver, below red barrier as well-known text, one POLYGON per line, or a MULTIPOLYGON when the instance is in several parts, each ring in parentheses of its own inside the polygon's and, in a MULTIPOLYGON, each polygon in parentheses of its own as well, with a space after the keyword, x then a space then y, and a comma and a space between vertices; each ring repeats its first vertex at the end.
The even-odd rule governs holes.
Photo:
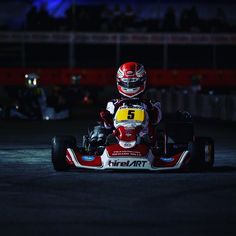
POLYGON ((204 94, 191 90, 155 90, 152 97, 162 104, 164 113, 189 111, 193 117, 236 121, 236 94, 204 94))

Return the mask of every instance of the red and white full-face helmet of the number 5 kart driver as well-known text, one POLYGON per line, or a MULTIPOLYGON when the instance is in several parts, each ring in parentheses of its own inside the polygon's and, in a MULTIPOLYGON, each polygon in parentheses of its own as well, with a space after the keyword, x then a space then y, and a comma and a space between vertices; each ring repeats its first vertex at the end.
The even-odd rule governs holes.
POLYGON ((133 98, 144 92, 146 88, 146 71, 142 64, 127 62, 117 71, 117 88, 121 95, 133 98))

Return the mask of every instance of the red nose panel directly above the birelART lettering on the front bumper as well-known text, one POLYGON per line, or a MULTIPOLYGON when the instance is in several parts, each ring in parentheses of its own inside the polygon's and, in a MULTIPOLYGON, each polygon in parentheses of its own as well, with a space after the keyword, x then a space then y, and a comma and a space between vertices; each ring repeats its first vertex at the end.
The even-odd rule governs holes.
POLYGON ((122 148, 119 144, 113 144, 106 147, 110 157, 128 156, 128 157, 144 157, 148 155, 148 147, 144 144, 138 144, 133 148, 122 148))

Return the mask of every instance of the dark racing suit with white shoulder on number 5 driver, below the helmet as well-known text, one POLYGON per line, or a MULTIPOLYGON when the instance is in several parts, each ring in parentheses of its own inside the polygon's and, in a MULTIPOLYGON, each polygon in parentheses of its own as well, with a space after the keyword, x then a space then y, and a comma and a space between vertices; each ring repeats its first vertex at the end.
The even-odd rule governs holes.
POLYGON ((113 118, 116 111, 124 104, 139 105, 145 110, 147 121, 140 132, 140 137, 146 140, 147 143, 153 143, 155 139, 154 126, 157 125, 162 118, 161 105, 159 102, 140 98, 121 98, 109 101, 106 109, 100 111, 99 114, 102 125, 95 126, 94 130, 90 133, 92 143, 104 145, 107 135, 111 134, 114 129, 113 118))

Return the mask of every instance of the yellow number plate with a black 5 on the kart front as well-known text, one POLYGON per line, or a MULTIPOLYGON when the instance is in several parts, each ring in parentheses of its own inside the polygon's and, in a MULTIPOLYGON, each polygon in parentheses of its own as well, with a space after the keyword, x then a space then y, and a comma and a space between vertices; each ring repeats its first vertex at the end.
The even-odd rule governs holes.
POLYGON ((145 118, 144 110, 136 108, 123 108, 119 109, 116 113, 116 120, 125 121, 125 120, 135 120, 143 122, 145 118))

